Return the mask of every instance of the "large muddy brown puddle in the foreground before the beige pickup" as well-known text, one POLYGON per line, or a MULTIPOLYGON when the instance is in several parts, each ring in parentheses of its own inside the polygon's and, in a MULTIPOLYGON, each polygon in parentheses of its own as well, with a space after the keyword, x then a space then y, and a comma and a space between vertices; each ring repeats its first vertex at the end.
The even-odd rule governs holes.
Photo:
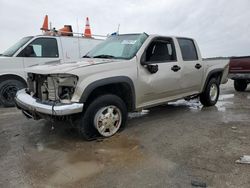
POLYGON ((45 187, 67 187, 94 177, 104 168, 134 166, 144 158, 138 141, 121 135, 92 142, 40 141, 26 151, 21 166, 27 182, 45 187))

